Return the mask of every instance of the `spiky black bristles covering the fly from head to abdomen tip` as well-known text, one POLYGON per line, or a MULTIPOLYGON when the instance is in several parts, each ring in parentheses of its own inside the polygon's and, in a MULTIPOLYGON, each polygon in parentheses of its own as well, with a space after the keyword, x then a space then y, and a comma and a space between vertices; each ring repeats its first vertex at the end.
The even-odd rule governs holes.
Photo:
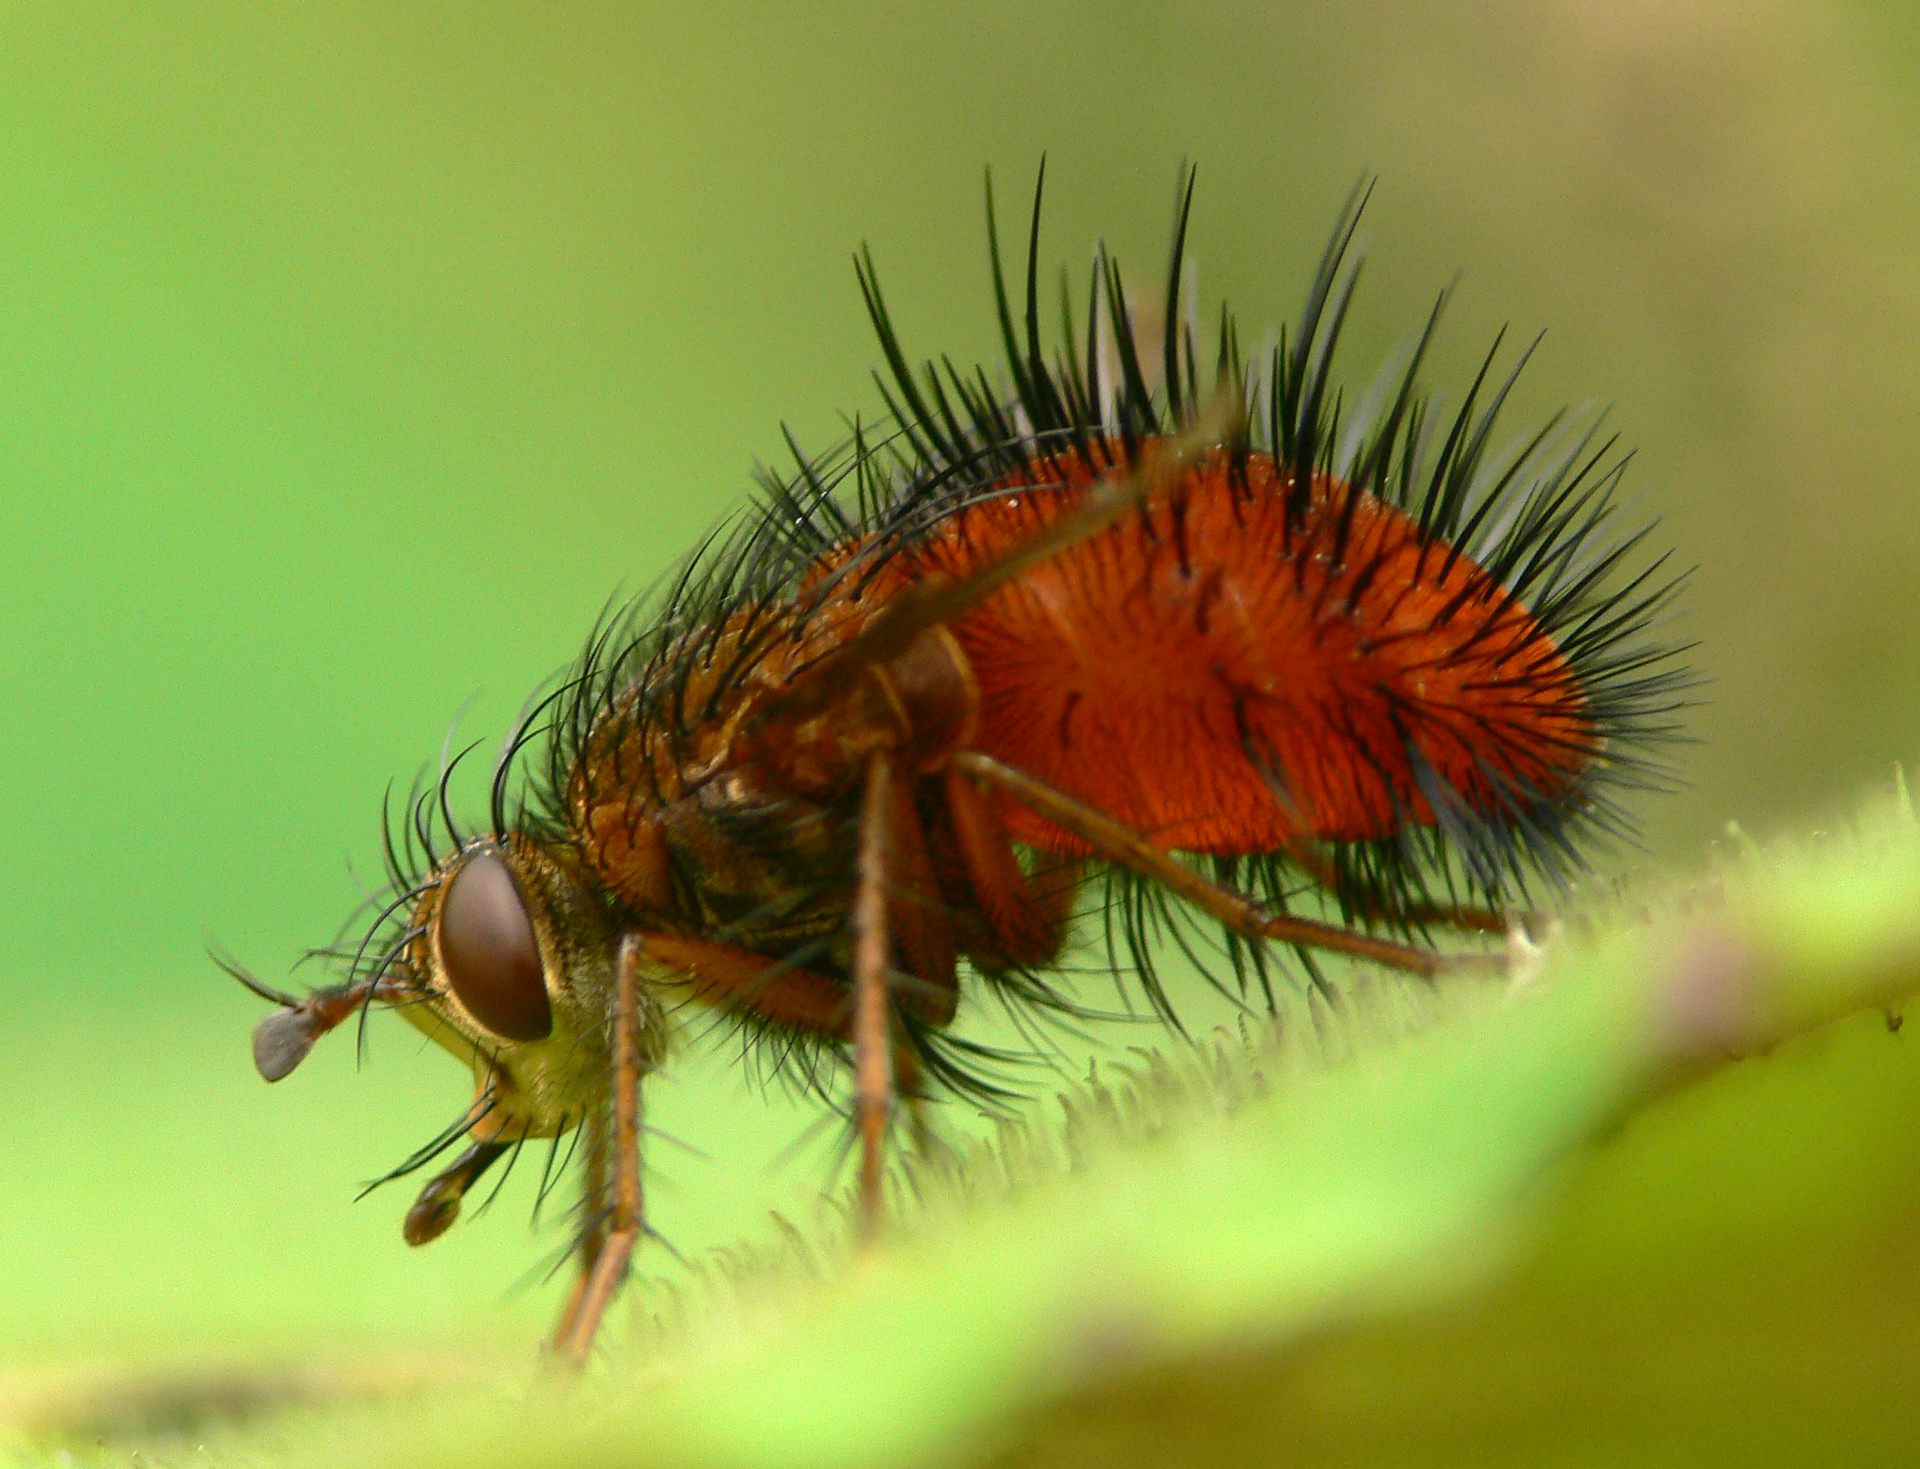
MULTIPOLYGON (((1398 749, 1386 760, 1384 753, 1369 753, 1348 710, 1317 705, 1311 714, 1321 728, 1373 762, 1394 803, 1390 835, 1313 843, 1331 881, 1304 874, 1294 855, 1283 853, 1198 862, 1273 912, 1331 906, 1348 926, 1419 937, 1427 912, 1532 903, 1538 887, 1569 887, 1596 847, 1632 843, 1624 803, 1674 783, 1668 751, 1684 737, 1678 714, 1695 682, 1680 662, 1684 645, 1667 634, 1668 609, 1686 574, 1674 574, 1667 557, 1645 555, 1653 522, 1628 513, 1619 486, 1630 455, 1603 432, 1601 419, 1555 413, 1517 438, 1503 438, 1509 397, 1536 344, 1509 351, 1505 332, 1498 334, 1455 407, 1425 388, 1423 369, 1448 305, 1446 290, 1402 359, 1348 399, 1334 359, 1361 275, 1356 236, 1367 194, 1367 186, 1356 188, 1342 205, 1296 321, 1256 353, 1242 349, 1225 307, 1212 349, 1202 349, 1188 269, 1190 171, 1175 207, 1164 280, 1165 328, 1158 342, 1139 325, 1140 303, 1125 286, 1121 261, 1104 248, 1083 290, 1069 273, 1060 273, 1058 338, 1052 346, 1043 338, 1044 167, 1035 182, 1018 284, 1002 257, 991 177, 987 182, 989 271, 1000 338, 991 367, 910 357, 872 252, 862 248, 854 273, 881 353, 874 382, 883 415, 851 419, 843 438, 820 451, 783 430, 791 467, 762 469, 749 509, 716 526, 649 595, 603 611, 574 666, 530 701, 495 762, 492 839, 520 830, 551 845, 574 841, 570 782, 582 770, 591 772, 599 793, 626 799, 637 820, 641 808, 662 797, 659 766, 653 760, 622 766, 626 741, 609 732, 622 726, 657 732, 678 760, 720 701, 745 687, 776 651, 791 657, 795 647, 810 647, 808 634, 824 609, 876 586, 956 517, 1008 495, 1008 486, 1044 497, 1089 476, 1129 474, 1150 446, 1192 428, 1206 405, 1227 394, 1244 407, 1223 446, 1236 505, 1256 494, 1250 474, 1256 457, 1271 459, 1273 484, 1284 486, 1288 538, 1306 534, 1315 482, 1348 486, 1332 528, 1336 561, 1363 543, 1354 526, 1369 497, 1402 511, 1417 536, 1415 586, 1436 586, 1467 568, 1461 590, 1436 620, 1467 626, 1471 647, 1511 636, 1505 609, 1524 609, 1536 630, 1528 634, 1538 639, 1536 662, 1549 655, 1563 661, 1597 737, 1578 751, 1578 778, 1551 787, 1475 757, 1478 795, 1469 799, 1423 753, 1419 735, 1436 734, 1434 710, 1409 701, 1392 710, 1398 749), (1083 319, 1075 319, 1075 301, 1085 301, 1083 319), (589 745, 611 759, 588 760, 589 745), (1394 776, 1390 764, 1409 770, 1411 780, 1394 776)), ((1185 501, 1173 495, 1154 515, 1160 518, 1152 524, 1164 524, 1187 566, 1192 547, 1185 501)), ((1413 590, 1379 584, 1388 570, 1382 549, 1359 555, 1371 559, 1352 566, 1342 582, 1348 613, 1363 593, 1404 597, 1413 590)), ((1331 586, 1325 582, 1315 595, 1332 595, 1331 586)), ((1450 726, 1438 734, 1473 751, 1478 732, 1450 726)), ((1548 730, 1540 737, 1551 743, 1557 735, 1548 730)), ((1244 734, 1240 753, 1277 803, 1298 801, 1275 749, 1244 734)), ((415 782, 392 814, 382 808, 396 899, 353 956, 355 974, 405 962, 411 943, 405 903, 436 881, 436 853, 445 849, 436 820, 453 849, 467 841, 447 795, 459 759, 444 760, 436 778, 415 782)), ((778 824, 783 812, 770 805, 714 820, 733 822, 735 835, 751 837, 756 822, 778 824)), ((829 881, 795 874, 793 891, 780 903, 806 910, 829 881)), ((1179 1025, 1179 1006, 1162 974, 1167 949, 1183 952, 1233 1004, 1271 1010, 1288 983, 1323 993, 1329 985, 1311 954, 1296 952, 1283 968, 1267 947, 1200 920, 1185 901, 1123 868, 1094 868, 1081 912, 1098 924, 1094 949, 1123 985, 1123 1008, 1164 1023, 1179 1025)), ((808 939, 774 962, 804 966, 816 958, 818 941, 808 939)), ((981 979, 1018 1023, 1073 1023, 1092 1014, 1046 972, 1012 968, 981 979)), ((710 1023, 741 1045, 760 1075, 804 1093, 837 1095, 845 1064, 839 1043, 768 1023, 751 1010, 716 1014, 710 1023)), ((902 1016, 902 1027, 929 1089, 985 1102, 1008 1095, 1004 1072, 1014 1052, 935 1031, 912 1016, 902 1016)))

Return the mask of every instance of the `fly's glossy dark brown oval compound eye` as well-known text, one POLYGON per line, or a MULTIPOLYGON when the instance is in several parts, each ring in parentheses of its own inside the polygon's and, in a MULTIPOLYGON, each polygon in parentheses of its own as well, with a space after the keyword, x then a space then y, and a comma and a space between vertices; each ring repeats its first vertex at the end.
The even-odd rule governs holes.
POLYGON ((540 943, 526 899, 492 853, 468 856, 440 904, 440 958, 468 1014, 503 1041, 553 1031, 540 943))

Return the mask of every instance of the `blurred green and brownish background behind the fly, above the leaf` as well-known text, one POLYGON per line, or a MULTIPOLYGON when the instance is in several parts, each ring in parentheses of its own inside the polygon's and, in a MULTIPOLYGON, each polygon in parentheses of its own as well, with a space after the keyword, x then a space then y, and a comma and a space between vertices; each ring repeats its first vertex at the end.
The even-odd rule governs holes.
MULTIPOLYGON (((870 411, 849 253, 991 351, 981 167, 1142 269, 1200 165, 1206 303, 1288 319, 1380 175, 1361 382, 1549 328, 1517 422, 1613 405, 1715 684, 1659 860, 1910 757, 1920 19, 1897 4, 0 8, 0 1365, 520 1350, 524 1187, 407 1252, 351 1187, 465 1081, 376 1025, 267 1091, 257 1004, 453 712, 495 734, 778 426, 870 411)), ((1018 213, 1018 207, 1014 209, 1018 213)), ((655 1087, 687 1252, 803 1208, 726 1056, 655 1087)), ((518 1181, 520 1185, 526 1179, 518 1181)))

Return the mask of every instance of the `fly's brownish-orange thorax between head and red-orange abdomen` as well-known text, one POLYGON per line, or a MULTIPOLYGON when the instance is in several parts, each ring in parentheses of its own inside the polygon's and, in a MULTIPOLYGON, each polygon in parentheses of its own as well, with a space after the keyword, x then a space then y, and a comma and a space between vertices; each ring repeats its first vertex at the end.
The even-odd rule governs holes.
MULTIPOLYGON (((768 620, 785 628, 797 614, 768 620)), ((933 770, 972 735, 979 705, 945 628, 810 682, 858 628, 841 614, 829 632, 772 638, 753 659, 722 634, 695 643, 691 670, 655 668, 609 701, 582 743, 566 812, 582 862, 632 918, 747 947, 841 924, 870 759, 887 751, 933 770), (695 714, 697 728, 682 728, 695 714)))

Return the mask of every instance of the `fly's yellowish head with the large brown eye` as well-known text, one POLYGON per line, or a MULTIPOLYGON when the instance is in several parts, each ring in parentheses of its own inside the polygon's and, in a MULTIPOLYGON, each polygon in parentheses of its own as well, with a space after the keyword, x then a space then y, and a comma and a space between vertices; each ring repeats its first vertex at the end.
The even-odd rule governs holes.
MULTIPOLYGON (((440 864, 413 929, 422 997, 399 1012, 474 1068, 476 1137, 551 1137, 601 1104, 620 935, 572 853, 472 841, 440 864)), ((647 987, 641 1004, 651 1066, 664 1016, 647 987)))

